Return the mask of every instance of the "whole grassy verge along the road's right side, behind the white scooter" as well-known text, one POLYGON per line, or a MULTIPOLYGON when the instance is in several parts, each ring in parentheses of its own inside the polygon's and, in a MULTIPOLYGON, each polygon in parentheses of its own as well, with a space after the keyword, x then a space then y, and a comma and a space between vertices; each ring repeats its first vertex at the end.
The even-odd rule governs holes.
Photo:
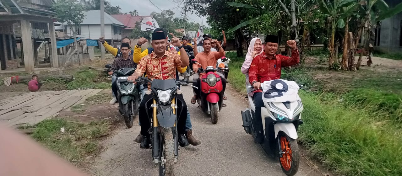
MULTIPOLYGON (((304 67, 283 69, 282 79, 306 86, 299 143, 315 159, 343 176, 402 174, 402 75, 398 70, 327 71, 324 50, 306 53, 304 67), (350 74, 353 74, 351 76, 350 74)), ((227 53, 229 81, 245 93, 244 58, 227 53)), ((400 72, 400 71, 399 71, 400 72)))

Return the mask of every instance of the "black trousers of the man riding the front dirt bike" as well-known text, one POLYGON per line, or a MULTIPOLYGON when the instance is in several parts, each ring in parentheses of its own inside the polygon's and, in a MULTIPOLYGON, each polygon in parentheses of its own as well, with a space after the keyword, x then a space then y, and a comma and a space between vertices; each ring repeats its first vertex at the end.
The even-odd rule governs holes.
MULTIPOLYGON (((177 120, 177 132, 178 134, 185 134, 185 125, 187 119, 187 104, 183 98, 183 95, 176 96, 176 115, 177 120)), ((141 134, 144 137, 150 137, 148 129, 151 127, 152 118, 152 95, 144 95, 141 104, 139 104, 139 123, 141 123, 141 134)))

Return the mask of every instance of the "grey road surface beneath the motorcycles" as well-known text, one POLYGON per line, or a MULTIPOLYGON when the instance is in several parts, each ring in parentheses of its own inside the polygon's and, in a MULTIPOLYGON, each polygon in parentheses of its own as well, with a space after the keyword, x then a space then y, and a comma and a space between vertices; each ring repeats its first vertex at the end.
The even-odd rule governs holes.
MULTIPOLYGON (((201 145, 179 148, 179 160, 175 165, 176 176, 285 176, 278 159, 269 159, 254 144, 251 135, 241 127, 240 111, 246 107, 245 98, 227 90, 228 105, 219 113, 218 123, 213 125, 207 115, 190 104, 191 87, 184 87, 184 97, 189 104, 193 134, 201 145)), ((117 105, 116 105, 117 107, 117 105)), ((116 113, 118 113, 116 111, 116 113)), ((92 174, 97 176, 157 176, 158 166, 151 161, 152 151, 140 149, 134 141, 139 134, 138 119, 131 129, 122 126, 117 134, 105 143, 106 150, 96 159, 92 174)), ((301 157, 297 176, 322 176, 317 168, 301 157)), ((326 173, 324 171, 324 173, 326 173)))

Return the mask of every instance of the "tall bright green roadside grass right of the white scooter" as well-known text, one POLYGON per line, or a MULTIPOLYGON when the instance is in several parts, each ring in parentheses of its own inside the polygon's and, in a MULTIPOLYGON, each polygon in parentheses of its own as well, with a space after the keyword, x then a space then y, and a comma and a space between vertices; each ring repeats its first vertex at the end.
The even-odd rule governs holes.
POLYGON ((305 123, 299 141, 326 168, 344 176, 400 176, 400 130, 382 119, 387 114, 345 106, 337 100, 322 101, 313 93, 299 93, 305 123))

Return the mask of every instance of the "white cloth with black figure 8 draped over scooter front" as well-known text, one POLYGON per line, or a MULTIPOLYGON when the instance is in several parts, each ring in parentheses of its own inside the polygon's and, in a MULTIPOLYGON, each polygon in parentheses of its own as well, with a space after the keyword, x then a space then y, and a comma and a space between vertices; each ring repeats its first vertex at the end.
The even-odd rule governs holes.
POLYGON ((297 94, 299 85, 294 81, 265 81, 261 87, 263 88, 263 102, 295 102, 301 100, 297 94))

